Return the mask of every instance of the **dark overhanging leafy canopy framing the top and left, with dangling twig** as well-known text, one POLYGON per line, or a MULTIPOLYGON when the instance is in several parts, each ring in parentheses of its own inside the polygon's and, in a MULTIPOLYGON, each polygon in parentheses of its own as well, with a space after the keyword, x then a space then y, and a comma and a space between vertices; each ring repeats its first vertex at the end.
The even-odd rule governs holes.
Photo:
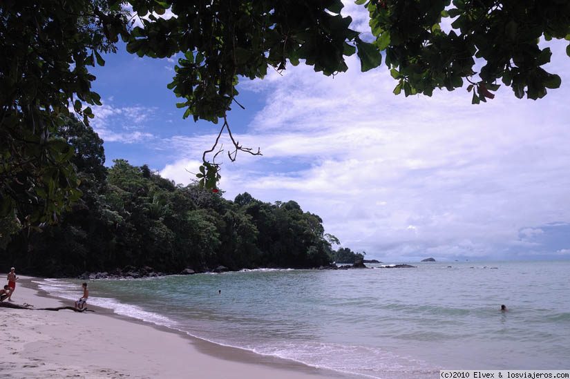
MULTIPOLYGON (((54 135, 70 109, 86 124, 93 117, 100 98, 89 71, 104 65, 101 53, 113 52, 119 38, 140 57, 180 57, 169 88, 184 117, 223 120, 220 134, 227 130, 232 141, 226 115, 238 105, 238 80, 300 62, 336 75, 355 53, 363 71, 385 57, 394 93, 432 95, 465 85, 473 103, 492 99, 500 82, 529 99, 560 86, 560 77, 543 68, 551 50, 540 41, 570 39, 570 1, 356 3, 370 14, 372 39, 350 28, 341 0, 2 1, 0 215, 53 222, 80 197, 73 150, 54 135), (173 17, 160 17, 166 12, 173 17), (142 27, 133 27, 135 17, 142 27)), ((202 187, 216 188, 220 177, 217 142, 202 156, 202 187)), ((260 154, 234 141, 229 158, 238 151, 260 154)))

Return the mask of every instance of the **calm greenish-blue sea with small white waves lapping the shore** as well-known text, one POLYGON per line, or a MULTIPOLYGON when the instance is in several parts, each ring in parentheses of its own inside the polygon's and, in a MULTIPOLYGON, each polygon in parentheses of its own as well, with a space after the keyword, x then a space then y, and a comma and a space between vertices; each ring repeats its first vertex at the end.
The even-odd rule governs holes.
MULTIPOLYGON (((570 369, 570 262, 414 265, 95 280, 89 303, 218 344, 371 378, 570 369)), ((80 282, 40 286, 76 300, 80 282)))

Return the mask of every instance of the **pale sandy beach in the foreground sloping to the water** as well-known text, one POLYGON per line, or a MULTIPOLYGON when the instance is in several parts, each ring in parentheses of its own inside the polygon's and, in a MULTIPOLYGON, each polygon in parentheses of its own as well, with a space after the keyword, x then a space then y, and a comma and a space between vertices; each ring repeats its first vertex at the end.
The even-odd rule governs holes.
MULTIPOLYGON (((14 304, 73 305, 37 291, 35 282, 41 279, 19 278, 14 304)), ((95 312, 0 308, 4 347, 0 372, 10 378, 348 377, 191 338, 113 315, 108 309, 89 309, 95 312)))

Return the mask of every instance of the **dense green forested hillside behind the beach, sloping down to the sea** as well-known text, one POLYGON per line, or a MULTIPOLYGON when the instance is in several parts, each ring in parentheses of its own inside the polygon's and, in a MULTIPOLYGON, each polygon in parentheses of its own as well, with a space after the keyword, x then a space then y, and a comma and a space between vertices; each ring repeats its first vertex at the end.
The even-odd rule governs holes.
MULTIPOLYGON (((321 217, 294 201, 270 204, 240 194, 232 202, 196 184, 175 185, 148 166, 104 166, 97 134, 69 119, 59 131, 74 148, 82 199, 57 224, 21 230, 0 244, 3 266, 73 276, 124 266, 164 273, 256 267, 309 268, 335 258, 321 217)), ((11 220, 2 220, 14 227, 11 220)))

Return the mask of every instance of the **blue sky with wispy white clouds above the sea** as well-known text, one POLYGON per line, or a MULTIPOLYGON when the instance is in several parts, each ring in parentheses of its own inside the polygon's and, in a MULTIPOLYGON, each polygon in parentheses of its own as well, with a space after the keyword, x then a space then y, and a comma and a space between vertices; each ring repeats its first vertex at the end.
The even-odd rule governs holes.
MULTIPOLYGON (((345 2, 353 27, 367 15, 345 2)), ((395 96, 386 66, 362 73, 356 58, 336 77, 311 67, 242 79, 230 126, 263 156, 225 159, 220 188, 274 202, 295 200, 323 218, 343 246, 383 261, 570 258, 570 98, 567 42, 547 70, 562 86, 538 101, 500 88, 471 105, 462 88, 395 96)), ((95 72, 104 105, 93 126, 107 164, 149 164, 187 184, 218 126, 182 119, 167 89, 173 59, 120 48, 95 72)), ((229 144, 225 143, 225 146, 229 144)))

